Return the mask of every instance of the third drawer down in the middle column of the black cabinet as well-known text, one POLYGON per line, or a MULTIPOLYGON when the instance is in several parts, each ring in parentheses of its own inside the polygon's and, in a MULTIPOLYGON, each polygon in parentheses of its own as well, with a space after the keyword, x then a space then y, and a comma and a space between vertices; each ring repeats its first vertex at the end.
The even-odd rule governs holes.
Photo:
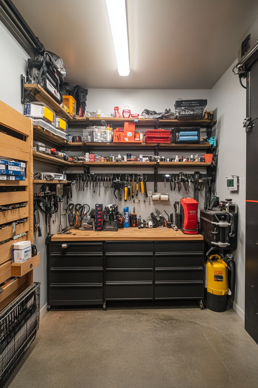
POLYGON ((120 281, 152 281, 153 270, 146 270, 145 268, 139 270, 134 268, 125 268, 123 270, 109 270, 106 269, 106 281, 120 282, 120 281))

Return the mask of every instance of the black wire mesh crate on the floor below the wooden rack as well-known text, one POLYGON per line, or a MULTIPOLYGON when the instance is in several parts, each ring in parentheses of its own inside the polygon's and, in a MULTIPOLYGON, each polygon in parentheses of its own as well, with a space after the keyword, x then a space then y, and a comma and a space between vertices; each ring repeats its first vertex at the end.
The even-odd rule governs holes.
POLYGON ((0 312, 0 388, 36 337, 39 286, 34 283, 0 312))

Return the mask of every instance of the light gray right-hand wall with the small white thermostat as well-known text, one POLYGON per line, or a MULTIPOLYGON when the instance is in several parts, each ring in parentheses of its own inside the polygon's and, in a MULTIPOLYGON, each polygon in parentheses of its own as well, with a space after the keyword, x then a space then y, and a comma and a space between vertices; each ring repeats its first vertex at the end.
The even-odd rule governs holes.
POLYGON ((234 309, 244 319, 246 133, 243 120, 246 117, 246 90, 241 87, 238 76, 232 73, 232 66, 212 88, 212 109, 217 118, 217 195, 222 200, 232 198, 239 211, 234 309), (231 175, 239 176, 238 194, 227 191, 226 177, 231 175))

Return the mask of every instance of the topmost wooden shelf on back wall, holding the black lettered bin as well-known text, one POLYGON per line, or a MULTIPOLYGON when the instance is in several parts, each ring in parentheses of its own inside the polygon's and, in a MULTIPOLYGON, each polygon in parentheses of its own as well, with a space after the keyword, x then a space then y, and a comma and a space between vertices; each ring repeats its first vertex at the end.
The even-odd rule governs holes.
MULTIPOLYGON (((138 126, 152 126, 154 127, 157 123, 157 119, 145 119, 145 118, 113 118, 113 117, 78 117, 76 119, 70 119, 69 125, 87 125, 87 123, 94 123, 101 120, 105 120, 107 124, 112 124, 114 126, 124 125, 125 121, 135 122, 135 125, 138 126)), ((206 128, 210 123, 210 120, 196 120, 196 121, 186 121, 186 120, 159 120, 159 126, 171 126, 171 127, 179 127, 179 126, 200 126, 201 128, 206 128)), ((214 120, 213 126, 217 123, 217 120, 214 120)))

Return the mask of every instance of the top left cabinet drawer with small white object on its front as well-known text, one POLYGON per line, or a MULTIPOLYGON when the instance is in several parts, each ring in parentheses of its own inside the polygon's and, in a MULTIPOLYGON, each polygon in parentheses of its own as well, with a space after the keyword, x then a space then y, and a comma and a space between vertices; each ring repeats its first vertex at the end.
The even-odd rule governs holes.
POLYGON ((51 242, 50 253, 62 253, 69 255, 71 253, 103 253, 103 241, 78 241, 78 242, 51 242), (62 248, 62 244, 67 244, 67 248, 62 248))

